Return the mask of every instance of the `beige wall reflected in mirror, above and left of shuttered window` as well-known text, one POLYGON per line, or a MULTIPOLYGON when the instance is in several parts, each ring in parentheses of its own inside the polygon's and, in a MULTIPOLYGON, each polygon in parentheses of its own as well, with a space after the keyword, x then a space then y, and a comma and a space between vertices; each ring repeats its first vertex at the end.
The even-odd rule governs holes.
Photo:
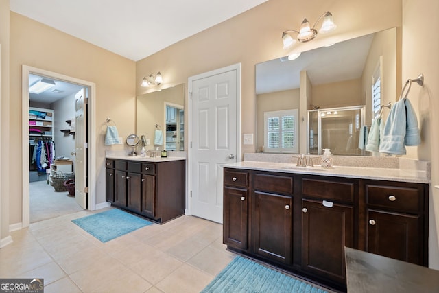
POLYGON ((298 109, 300 106, 300 90, 291 89, 288 91, 276 91, 274 93, 263 93, 256 96, 257 109, 257 151, 261 150, 263 142, 264 121, 263 113, 268 111, 298 109))

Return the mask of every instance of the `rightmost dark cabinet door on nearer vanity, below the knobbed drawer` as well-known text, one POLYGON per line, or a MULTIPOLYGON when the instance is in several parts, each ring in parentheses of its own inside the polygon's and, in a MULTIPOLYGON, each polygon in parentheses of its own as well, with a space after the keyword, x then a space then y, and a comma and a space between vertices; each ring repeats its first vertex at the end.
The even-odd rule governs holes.
POLYGON ((368 210, 366 251, 424 265, 424 239, 418 215, 368 210))

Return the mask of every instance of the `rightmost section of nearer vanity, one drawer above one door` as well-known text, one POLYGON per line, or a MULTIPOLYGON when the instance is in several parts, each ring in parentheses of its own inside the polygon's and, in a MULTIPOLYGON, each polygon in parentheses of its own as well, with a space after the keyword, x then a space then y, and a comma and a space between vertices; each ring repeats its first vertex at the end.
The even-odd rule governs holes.
POLYGON ((427 190, 415 183, 365 181, 365 250, 427 266, 427 190))

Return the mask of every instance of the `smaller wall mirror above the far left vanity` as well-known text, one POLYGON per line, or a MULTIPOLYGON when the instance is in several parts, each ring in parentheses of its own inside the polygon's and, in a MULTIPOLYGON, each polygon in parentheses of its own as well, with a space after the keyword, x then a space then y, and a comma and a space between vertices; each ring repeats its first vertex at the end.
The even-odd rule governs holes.
POLYGON ((137 96, 136 133, 147 149, 185 150, 185 84, 137 96), (161 131, 158 139, 156 130, 161 131))

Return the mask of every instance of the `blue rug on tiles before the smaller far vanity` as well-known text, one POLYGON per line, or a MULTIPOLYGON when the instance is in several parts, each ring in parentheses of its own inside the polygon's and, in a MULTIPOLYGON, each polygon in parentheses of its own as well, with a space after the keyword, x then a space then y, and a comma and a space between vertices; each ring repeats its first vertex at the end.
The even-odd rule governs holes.
POLYGON ((101 242, 108 242, 121 235, 152 224, 150 221, 120 209, 110 209, 102 213, 87 215, 84 218, 71 220, 71 222, 77 224, 101 242))

